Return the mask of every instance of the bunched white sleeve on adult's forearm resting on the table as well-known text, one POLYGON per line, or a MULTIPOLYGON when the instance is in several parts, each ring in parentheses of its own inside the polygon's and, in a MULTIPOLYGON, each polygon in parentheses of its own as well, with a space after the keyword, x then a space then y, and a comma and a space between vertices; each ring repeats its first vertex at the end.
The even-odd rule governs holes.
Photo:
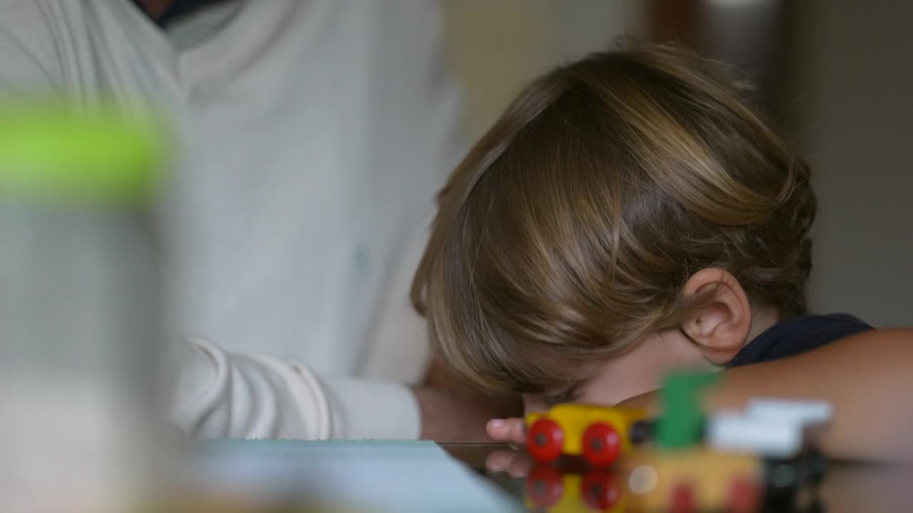
POLYGON ((174 424, 203 438, 417 438, 415 397, 403 385, 320 379, 304 365, 184 340, 170 361, 174 424))

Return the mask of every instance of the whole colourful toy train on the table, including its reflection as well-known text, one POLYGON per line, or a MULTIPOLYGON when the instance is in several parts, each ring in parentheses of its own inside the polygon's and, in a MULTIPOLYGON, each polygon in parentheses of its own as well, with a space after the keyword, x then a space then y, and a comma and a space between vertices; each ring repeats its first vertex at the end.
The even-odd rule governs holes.
POLYGON ((698 386, 680 388, 664 394, 675 403, 654 422, 641 410, 581 404, 530 414, 527 446, 540 464, 527 479, 529 505, 556 513, 788 511, 798 488, 817 486, 824 458, 810 441, 833 415, 829 403, 759 398, 704 418, 698 386), (581 455, 591 471, 562 476, 550 465, 561 455, 581 455))

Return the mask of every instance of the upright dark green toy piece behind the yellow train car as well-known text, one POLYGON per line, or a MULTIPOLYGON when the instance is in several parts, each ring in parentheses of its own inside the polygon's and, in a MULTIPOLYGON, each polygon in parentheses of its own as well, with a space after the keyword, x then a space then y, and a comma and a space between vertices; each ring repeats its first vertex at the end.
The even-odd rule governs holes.
POLYGON ((660 392, 663 414, 656 442, 664 449, 699 444, 703 436, 704 412, 700 393, 719 379, 717 372, 673 372, 660 392))

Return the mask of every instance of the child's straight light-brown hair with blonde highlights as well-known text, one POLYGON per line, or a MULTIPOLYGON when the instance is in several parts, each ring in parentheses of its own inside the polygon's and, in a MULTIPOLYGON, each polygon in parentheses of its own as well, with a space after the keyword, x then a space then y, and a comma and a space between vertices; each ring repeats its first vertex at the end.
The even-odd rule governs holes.
POLYGON ((412 298, 458 375, 541 392, 677 327, 702 268, 803 313, 814 214, 807 164, 719 68, 596 53, 532 82, 456 167, 412 298))

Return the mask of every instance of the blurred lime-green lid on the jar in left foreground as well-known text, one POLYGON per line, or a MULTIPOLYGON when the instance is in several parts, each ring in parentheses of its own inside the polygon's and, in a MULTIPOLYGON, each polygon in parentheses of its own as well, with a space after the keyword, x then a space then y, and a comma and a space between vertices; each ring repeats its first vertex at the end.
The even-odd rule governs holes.
POLYGON ((0 197, 137 203, 163 168, 163 131, 113 109, 75 113, 64 102, 0 103, 0 197))

